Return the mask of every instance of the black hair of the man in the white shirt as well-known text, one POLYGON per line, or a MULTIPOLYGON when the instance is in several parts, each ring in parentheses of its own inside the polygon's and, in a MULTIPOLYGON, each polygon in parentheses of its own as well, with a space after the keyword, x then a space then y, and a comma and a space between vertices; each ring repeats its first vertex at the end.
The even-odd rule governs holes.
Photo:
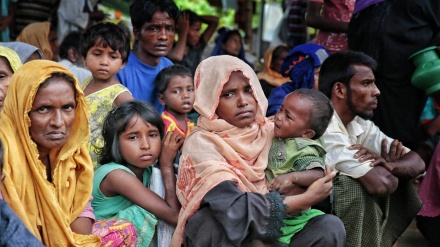
POLYGON ((353 65, 364 65, 373 71, 377 67, 376 61, 362 52, 345 51, 331 54, 321 65, 319 91, 330 99, 336 82, 341 82, 350 89, 350 80, 356 72, 353 65))

